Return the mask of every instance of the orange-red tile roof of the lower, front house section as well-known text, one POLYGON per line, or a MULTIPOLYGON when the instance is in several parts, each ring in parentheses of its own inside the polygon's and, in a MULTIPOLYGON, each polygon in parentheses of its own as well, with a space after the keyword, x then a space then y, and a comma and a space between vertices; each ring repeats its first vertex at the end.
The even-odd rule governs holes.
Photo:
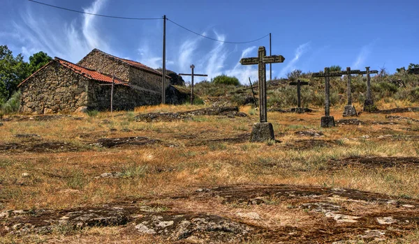
MULTIPOLYGON (((36 73, 38 73, 39 71, 41 71, 43 68, 45 68, 48 64, 50 64, 52 62, 57 62, 57 63, 61 64, 61 66, 64 66, 66 68, 69 68, 69 69, 73 70, 73 72, 78 73, 80 75, 83 75, 84 77, 87 77, 89 79, 94 79, 94 80, 96 80, 98 82, 112 83, 112 76, 110 76, 110 75, 105 75, 105 74, 102 74, 102 73, 98 73, 95 70, 91 70, 89 68, 84 68, 82 66, 78 66, 75 63, 71 63, 71 62, 66 61, 64 59, 60 59, 60 58, 55 57, 54 60, 52 60, 49 63, 45 64, 45 66, 43 66, 39 70, 36 70, 36 72, 34 74, 32 74, 31 76, 27 77, 27 79, 25 79, 23 82, 21 82, 18 85, 18 87, 21 84, 23 84, 24 82, 26 82, 30 77, 32 77, 33 75, 35 75, 36 73)), ((119 79, 117 77, 115 77, 115 84, 122 84, 124 86, 130 86, 128 84, 128 82, 124 81, 123 79, 119 79)))

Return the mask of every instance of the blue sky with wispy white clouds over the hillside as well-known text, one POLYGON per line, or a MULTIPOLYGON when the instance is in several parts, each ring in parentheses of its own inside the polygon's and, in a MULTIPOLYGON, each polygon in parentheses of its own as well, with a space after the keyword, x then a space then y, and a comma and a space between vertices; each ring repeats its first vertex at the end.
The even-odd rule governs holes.
MULTIPOLYGON (((205 36, 231 42, 272 33, 272 54, 286 58, 272 65, 272 77, 286 77, 294 69, 317 72, 332 65, 361 70, 385 67, 394 73, 396 68, 419 63, 419 1, 38 1, 102 15, 166 15, 205 36)), ((98 48, 161 67, 163 20, 82 15, 27 0, 0 0, 0 8, 0 45, 8 45, 25 59, 43 51, 76 63, 98 48)), ((196 73, 234 75, 245 84, 247 77, 257 79, 257 67, 241 66, 240 58, 256 56, 262 45, 269 54, 268 37, 228 44, 196 36, 171 22, 166 31, 166 67, 177 73, 189 73, 193 63, 196 73)))

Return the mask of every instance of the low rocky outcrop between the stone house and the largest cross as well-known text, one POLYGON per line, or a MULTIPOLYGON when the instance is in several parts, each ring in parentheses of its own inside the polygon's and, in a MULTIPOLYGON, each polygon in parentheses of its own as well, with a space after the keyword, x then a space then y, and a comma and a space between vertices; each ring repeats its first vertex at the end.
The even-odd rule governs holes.
POLYGON ((149 113, 149 114, 140 114, 135 116, 136 121, 176 121, 181 119, 191 119, 193 116, 228 116, 228 117, 245 117, 247 114, 239 112, 238 107, 206 107, 203 109, 196 109, 186 112, 177 112, 177 113, 149 113))

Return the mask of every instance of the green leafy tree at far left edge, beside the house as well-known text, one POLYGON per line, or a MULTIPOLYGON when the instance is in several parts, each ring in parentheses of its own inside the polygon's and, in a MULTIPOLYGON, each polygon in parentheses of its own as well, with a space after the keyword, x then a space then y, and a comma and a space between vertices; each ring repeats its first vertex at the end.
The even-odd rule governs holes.
POLYGON ((8 100, 28 75, 28 63, 22 54, 13 56, 6 45, 0 45, 0 102, 8 100))

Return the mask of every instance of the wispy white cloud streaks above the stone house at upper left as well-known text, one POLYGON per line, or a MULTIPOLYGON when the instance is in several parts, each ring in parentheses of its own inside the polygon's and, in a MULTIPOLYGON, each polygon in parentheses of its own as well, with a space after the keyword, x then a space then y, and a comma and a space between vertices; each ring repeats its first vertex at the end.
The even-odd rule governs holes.
MULTIPOLYGON (((89 13, 98 13, 107 0, 96 0, 91 6, 84 8, 89 13)), ((79 15, 80 16, 80 15, 79 15)), ((77 62, 91 49, 98 48, 112 52, 103 34, 97 31, 98 20, 94 15, 82 15, 82 24, 77 19, 68 23, 56 17, 43 17, 27 8, 20 14, 20 19, 12 22, 23 54, 44 51, 50 56, 59 56, 77 62)), ((25 55, 25 56, 27 56, 25 55)))

